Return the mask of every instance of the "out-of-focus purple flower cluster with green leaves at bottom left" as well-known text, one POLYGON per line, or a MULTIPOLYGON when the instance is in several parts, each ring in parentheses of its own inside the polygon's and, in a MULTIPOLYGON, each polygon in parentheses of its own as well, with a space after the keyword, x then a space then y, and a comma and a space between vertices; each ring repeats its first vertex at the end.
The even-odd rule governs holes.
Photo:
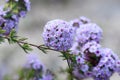
POLYGON ((19 75, 20 79, 53 80, 53 74, 49 70, 46 70, 45 66, 39 61, 37 55, 32 53, 27 55, 27 62, 22 70, 22 76, 19 75), (30 76, 27 78, 27 75, 30 76))

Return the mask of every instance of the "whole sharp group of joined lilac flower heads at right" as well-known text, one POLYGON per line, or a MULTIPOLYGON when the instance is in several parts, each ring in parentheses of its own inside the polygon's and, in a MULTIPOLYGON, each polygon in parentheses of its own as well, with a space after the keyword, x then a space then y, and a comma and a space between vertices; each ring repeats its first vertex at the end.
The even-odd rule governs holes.
POLYGON ((120 60, 109 48, 100 45, 102 29, 86 17, 70 22, 56 19, 44 28, 45 45, 70 54, 69 64, 77 80, 90 78, 110 80, 114 72, 120 72, 120 60), (75 60, 71 59, 74 58, 75 60))

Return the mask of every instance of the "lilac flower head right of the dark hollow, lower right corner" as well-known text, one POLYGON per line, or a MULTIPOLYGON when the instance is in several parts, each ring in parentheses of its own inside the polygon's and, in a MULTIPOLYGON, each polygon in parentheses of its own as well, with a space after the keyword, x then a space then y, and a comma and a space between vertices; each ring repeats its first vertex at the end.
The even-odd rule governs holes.
POLYGON ((93 68, 93 76, 95 80, 110 80, 110 77, 116 72, 116 62, 118 61, 117 55, 108 48, 101 49, 101 58, 97 66, 93 68))

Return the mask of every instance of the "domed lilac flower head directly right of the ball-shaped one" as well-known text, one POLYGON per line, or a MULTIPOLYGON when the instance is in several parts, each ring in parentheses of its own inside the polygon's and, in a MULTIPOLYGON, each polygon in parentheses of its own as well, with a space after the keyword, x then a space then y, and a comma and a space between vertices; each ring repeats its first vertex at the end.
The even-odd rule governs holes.
POLYGON ((101 38, 102 29, 94 23, 83 24, 76 30, 75 39, 81 45, 91 40, 100 42, 101 38))

